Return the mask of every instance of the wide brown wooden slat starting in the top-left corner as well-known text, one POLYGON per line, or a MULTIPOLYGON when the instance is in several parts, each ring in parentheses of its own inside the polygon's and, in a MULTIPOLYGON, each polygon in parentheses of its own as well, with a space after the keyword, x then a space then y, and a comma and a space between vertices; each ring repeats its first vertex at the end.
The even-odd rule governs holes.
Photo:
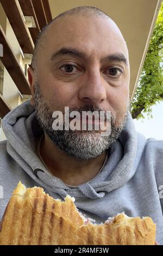
POLYGON ((34 44, 16 0, 0 0, 23 53, 33 53, 34 44))

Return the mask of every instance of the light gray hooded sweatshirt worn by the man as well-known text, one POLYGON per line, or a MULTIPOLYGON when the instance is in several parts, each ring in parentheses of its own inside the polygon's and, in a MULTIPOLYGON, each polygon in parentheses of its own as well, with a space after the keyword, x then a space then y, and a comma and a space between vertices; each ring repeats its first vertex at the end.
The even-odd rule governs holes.
POLYGON ((21 180, 27 187, 43 187, 56 199, 69 194, 80 212, 97 223, 120 212, 150 216, 156 223, 156 240, 163 243, 163 141, 137 133, 130 113, 102 171, 73 188, 52 176, 35 153, 43 131, 30 101, 5 115, 2 127, 7 141, 0 142, 0 218, 21 180))

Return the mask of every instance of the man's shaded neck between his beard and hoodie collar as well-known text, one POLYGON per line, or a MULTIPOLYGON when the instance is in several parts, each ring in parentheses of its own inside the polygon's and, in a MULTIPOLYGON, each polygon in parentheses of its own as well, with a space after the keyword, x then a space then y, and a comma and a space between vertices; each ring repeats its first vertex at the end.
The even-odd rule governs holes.
POLYGON ((67 185, 78 186, 95 178, 105 160, 106 151, 96 159, 78 161, 55 146, 45 134, 40 144, 40 155, 54 176, 67 185))

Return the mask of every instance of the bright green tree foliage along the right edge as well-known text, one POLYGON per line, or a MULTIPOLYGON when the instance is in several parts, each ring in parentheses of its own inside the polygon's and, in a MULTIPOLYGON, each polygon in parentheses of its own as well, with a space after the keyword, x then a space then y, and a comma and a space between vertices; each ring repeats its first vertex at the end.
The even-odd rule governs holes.
POLYGON ((163 100, 163 3, 149 43, 145 63, 136 88, 131 115, 144 118, 143 113, 152 117, 152 106, 163 100))

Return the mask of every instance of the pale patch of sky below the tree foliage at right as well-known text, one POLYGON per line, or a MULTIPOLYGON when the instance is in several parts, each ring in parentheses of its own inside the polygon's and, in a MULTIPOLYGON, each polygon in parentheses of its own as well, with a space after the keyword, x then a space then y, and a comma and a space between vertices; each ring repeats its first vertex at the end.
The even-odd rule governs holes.
POLYGON ((163 101, 156 103, 152 107, 153 118, 134 119, 136 131, 142 133, 146 138, 155 138, 163 140, 163 101))

